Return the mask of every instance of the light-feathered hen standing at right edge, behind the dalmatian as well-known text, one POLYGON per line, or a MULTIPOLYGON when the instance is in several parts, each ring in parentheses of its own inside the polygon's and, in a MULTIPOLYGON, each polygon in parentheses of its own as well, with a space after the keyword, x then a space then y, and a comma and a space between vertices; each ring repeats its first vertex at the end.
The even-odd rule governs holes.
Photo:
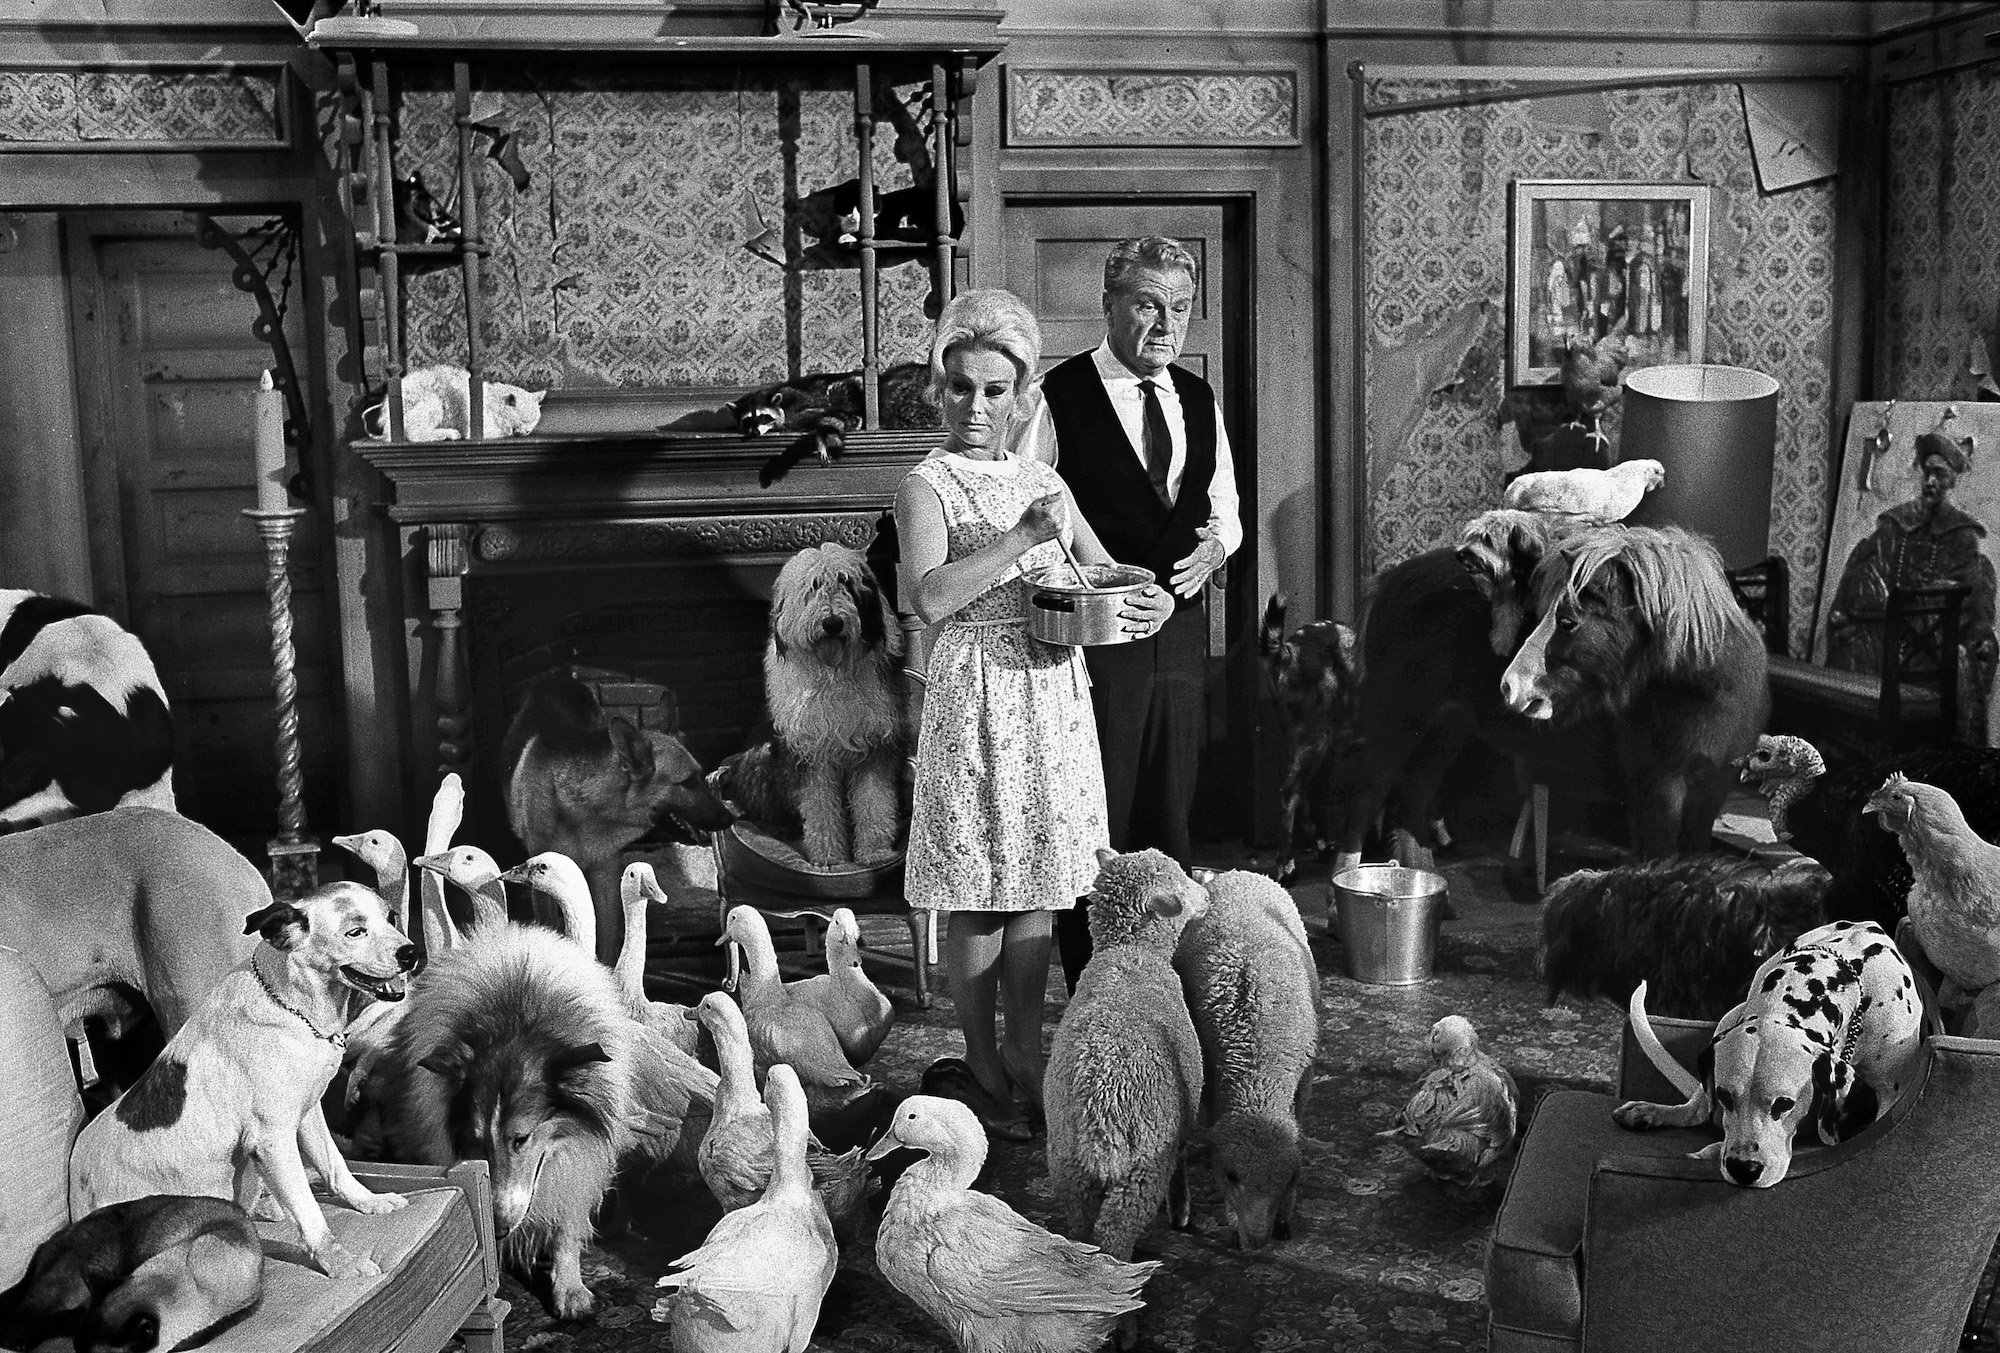
POLYGON ((1882 815, 1910 859, 1910 927, 1944 983, 1946 1009, 2000 981, 2000 847, 1982 841, 1936 785, 1892 775, 1864 813, 1882 815))

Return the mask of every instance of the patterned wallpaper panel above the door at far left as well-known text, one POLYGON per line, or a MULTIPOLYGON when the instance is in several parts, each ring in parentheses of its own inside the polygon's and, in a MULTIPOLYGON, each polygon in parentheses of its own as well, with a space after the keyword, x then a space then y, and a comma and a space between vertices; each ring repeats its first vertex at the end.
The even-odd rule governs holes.
POLYGON ((0 142, 282 138, 282 68, 0 70, 0 142))

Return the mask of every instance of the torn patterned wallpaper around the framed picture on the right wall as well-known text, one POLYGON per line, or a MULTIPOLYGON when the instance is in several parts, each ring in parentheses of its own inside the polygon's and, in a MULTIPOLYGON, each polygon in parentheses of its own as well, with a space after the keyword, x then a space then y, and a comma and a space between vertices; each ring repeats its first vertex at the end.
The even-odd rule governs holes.
MULTIPOLYGON (((1370 90, 1376 106, 1456 90, 1370 90)), ((1756 188, 1734 84, 1426 108, 1366 122, 1364 242, 1370 348, 1396 348, 1488 302, 1456 384, 1430 396, 1408 450, 1368 446, 1368 568, 1446 544, 1500 502, 1522 460, 1504 396, 1508 182, 1700 178, 1710 218, 1710 362, 1780 382, 1772 550, 1792 564, 1794 650, 1812 618, 1826 534, 1834 198, 1830 184, 1756 188), (1394 456, 1380 472, 1378 458, 1394 456)), ((1370 364, 1370 376, 1372 376, 1370 364)), ((1378 390, 1370 380, 1368 398, 1378 390)))

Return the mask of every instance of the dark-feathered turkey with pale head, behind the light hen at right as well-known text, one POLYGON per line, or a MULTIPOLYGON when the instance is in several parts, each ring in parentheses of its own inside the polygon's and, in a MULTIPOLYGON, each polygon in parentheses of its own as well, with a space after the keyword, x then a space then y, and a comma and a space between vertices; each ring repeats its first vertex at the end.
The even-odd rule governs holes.
POLYGON ((2000 837, 2000 749, 1924 747, 1828 771, 1812 743, 1766 735, 1742 765, 1742 779, 1770 801, 1778 839, 1834 877, 1826 919, 1874 921, 1894 935, 1910 893, 1910 863, 1896 837, 1862 831, 1862 805, 1892 771, 1936 785, 1966 807, 1972 831, 2000 837))

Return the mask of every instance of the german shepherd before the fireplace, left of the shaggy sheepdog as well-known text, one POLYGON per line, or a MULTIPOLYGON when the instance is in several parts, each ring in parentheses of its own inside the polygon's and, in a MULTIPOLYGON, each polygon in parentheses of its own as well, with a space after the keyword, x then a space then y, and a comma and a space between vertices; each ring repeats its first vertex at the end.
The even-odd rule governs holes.
POLYGON ((528 689, 500 765, 508 825, 528 855, 560 851, 590 881, 604 963, 624 945, 620 853, 652 835, 700 845, 734 821, 680 739, 606 715, 596 693, 560 668, 528 689))

